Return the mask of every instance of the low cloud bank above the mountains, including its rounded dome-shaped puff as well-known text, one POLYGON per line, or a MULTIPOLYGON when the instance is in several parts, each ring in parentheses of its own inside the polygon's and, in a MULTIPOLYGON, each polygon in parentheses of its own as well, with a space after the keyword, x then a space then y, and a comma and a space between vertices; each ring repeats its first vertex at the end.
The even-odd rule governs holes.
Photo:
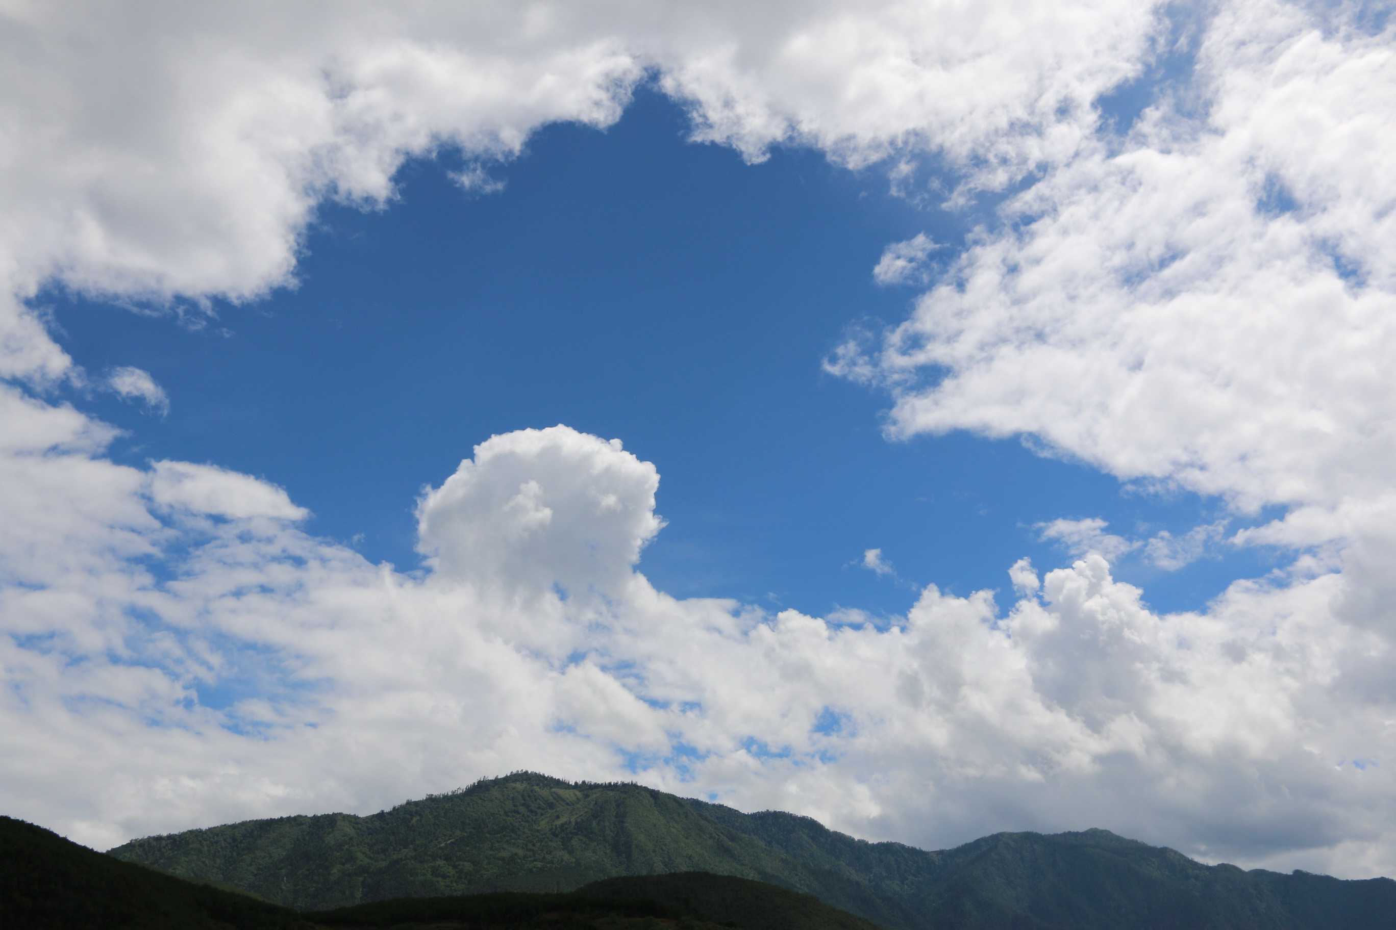
POLYGON ((423 498, 436 563, 405 576, 304 535, 278 489, 116 466, 80 418, 32 411, 53 422, 7 462, 42 459, 11 478, 61 517, 66 562, 7 554, 0 792, 88 842, 631 759, 660 788, 928 845, 1089 821, 1388 867, 1389 777, 1365 763, 1392 696, 1362 669, 1389 646, 1340 616, 1340 576, 1159 616, 1100 555, 1041 580, 1022 561, 1007 611, 930 587, 881 627, 676 600, 634 570, 653 466, 565 427, 477 446, 423 498), (87 471, 61 506, 54 463, 87 471), (188 506, 147 489, 166 481, 188 506))

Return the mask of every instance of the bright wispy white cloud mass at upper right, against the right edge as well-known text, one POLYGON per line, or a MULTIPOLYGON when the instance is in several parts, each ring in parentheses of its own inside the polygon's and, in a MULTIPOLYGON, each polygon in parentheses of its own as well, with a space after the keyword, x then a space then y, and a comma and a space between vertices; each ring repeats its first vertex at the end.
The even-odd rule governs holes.
POLYGON ((1382 492, 1389 39, 1222 8, 1187 100, 1203 117, 1161 100, 1051 170, 1004 208, 1023 226, 984 231, 889 336, 895 431, 1032 434, 1242 510, 1382 492), (946 372, 930 389, 927 368, 946 372))

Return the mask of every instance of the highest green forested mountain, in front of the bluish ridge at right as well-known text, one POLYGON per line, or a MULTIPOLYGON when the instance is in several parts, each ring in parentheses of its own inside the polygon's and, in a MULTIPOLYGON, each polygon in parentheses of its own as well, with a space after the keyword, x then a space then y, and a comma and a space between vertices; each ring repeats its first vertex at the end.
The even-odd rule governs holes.
POLYGON ((638 785, 511 775, 369 817, 253 820, 138 839, 113 856, 325 909, 385 898, 571 891, 624 874, 712 871, 808 884, 799 863, 638 785))

